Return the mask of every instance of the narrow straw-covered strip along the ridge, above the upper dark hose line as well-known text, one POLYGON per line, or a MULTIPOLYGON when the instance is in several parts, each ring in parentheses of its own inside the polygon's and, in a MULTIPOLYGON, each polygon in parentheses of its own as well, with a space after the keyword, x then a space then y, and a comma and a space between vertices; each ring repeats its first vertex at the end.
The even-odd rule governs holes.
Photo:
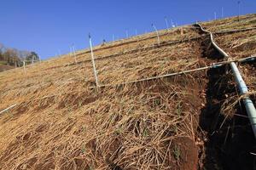
MULTIPOLYGON (((174 42, 186 40, 191 37, 200 36, 195 28, 192 26, 183 26, 183 29, 173 28, 172 30, 159 31, 160 43, 174 42), (172 36, 170 36, 172 35, 172 36)), ((106 42, 105 44, 98 45, 94 48, 96 57, 100 58, 107 54, 119 54, 125 53, 132 49, 147 48, 152 45, 157 45, 157 37, 155 31, 145 34, 143 36, 131 37, 129 39, 123 39, 115 42, 106 42), (139 43, 138 43, 139 42, 139 43)), ((80 59, 90 59, 90 50, 82 50, 77 52, 80 59), (85 54, 85 55, 84 55, 85 54), (86 55, 87 54, 87 55, 86 55)))

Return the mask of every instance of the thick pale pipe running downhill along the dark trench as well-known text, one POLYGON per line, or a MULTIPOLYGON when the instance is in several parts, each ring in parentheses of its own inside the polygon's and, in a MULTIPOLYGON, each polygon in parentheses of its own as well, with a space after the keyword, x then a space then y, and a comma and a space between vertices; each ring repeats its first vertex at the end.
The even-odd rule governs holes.
MULTIPOLYGON (((222 48, 219 48, 216 42, 214 42, 212 33, 210 31, 203 29, 200 24, 197 24, 197 25, 201 28, 201 31, 205 31, 210 34, 211 42, 212 42, 212 45, 214 46, 214 48, 216 48, 220 54, 224 55, 224 58, 228 59, 229 55, 226 54, 222 48)), ((236 63, 230 62, 230 68, 231 68, 231 71, 233 72, 234 77, 236 79, 236 84, 239 88, 240 94, 241 95, 247 94, 247 92, 248 92, 247 85, 244 82, 244 80, 242 79, 241 73, 238 70, 236 63)), ((253 105, 253 101, 249 97, 242 99, 242 101, 243 101, 243 104, 245 105, 248 118, 251 122, 254 137, 256 138, 256 109, 255 109, 255 106, 253 105)))

